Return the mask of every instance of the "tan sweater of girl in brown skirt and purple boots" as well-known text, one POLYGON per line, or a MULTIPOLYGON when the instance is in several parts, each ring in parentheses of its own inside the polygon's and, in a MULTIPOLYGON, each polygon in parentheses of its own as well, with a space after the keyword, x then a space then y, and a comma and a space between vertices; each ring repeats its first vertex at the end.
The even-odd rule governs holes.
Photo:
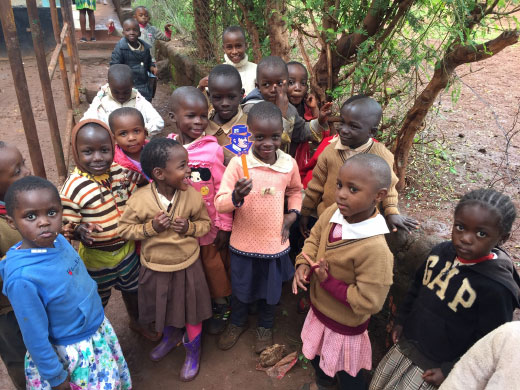
POLYGON ((153 271, 174 272, 195 263, 200 246, 196 237, 209 232, 211 220, 202 196, 193 187, 179 191, 171 210, 160 201, 155 184, 138 189, 126 203, 126 209, 117 232, 127 240, 141 241, 141 264, 153 271), (188 231, 179 234, 173 229, 157 233, 153 218, 163 211, 173 221, 177 217, 188 219, 188 231))

